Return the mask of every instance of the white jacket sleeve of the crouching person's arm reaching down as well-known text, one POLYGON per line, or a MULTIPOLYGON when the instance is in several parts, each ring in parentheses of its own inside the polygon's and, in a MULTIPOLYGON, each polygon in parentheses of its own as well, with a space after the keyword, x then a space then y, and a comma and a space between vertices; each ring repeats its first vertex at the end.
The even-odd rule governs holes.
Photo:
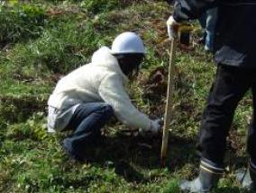
POLYGON ((151 119, 137 110, 123 87, 120 75, 107 75, 99 86, 99 95, 114 109, 114 114, 123 124, 148 130, 151 119))

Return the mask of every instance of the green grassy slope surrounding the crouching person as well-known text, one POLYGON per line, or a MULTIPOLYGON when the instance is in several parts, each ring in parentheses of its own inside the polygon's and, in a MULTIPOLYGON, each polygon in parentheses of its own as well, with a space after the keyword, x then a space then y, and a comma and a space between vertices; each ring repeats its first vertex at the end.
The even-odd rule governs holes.
MULTIPOLYGON (((188 52, 178 49, 175 59, 176 111, 166 168, 159 164, 160 137, 122 136, 116 131, 120 125, 108 127, 106 145, 89 151, 90 160, 84 164, 70 162, 62 153, 59 142, 64 134, 45 132, 46 101, 59 77, 86 63, 96 48, 110 45, 122 31, 138 31, 148 48, 140 81, 131 89, 133 99, 151 116, 162 115, 164 98, 149 100, 142 91, 152 69, 167 69, 165 20, 170 9, 158 1, 114 0, 37 0, 2 7, 0 191, 178 192, 179 179, 195 176, 197 130, 215 72, 211 56, 197 46, 188 52), (5 12, 10 10, 19 14, 5 12)), ((233 170, 246 163, 242 145, 250 104, 245 99, 237 110, 228 172, 215 192, 242 191, 233 170)))

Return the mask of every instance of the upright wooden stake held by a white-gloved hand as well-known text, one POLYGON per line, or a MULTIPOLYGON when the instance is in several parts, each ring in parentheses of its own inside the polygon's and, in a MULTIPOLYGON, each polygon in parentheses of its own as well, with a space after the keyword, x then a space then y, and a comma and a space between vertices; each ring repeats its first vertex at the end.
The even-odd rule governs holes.
POLYGON ((175 49, 176 49, 176 41, 174 39, 171 41, 170 49, 169 49, 169 80, 168 80, 167 101, 166 101, 166 107, 165 107, 162 145, 161 145, 161 154, 160 154, 160 161, 162 166, 165 166, 165 163, 166 163, 168 139, 169 139, 169 124, 172 118, 173 91, 174 91, 173 58, 175 57, 175 49))

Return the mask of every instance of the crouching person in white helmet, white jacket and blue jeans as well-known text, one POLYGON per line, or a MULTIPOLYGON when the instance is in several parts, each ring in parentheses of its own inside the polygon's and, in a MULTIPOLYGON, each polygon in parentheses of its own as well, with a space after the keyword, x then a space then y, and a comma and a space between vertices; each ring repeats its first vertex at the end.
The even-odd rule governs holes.
POLYGON ((73 130, 63 148, 75 160, 86 158, 85 147, 101 136, 100 129, 115 116, 125 125, 157 133, 160 120, 152 120, 137 110, 124 89, 137 75, 145 55, 142 39, 124 32, 112 48, 100 48, 90 64, 64 76, 48 101, 49 131, 73 130))

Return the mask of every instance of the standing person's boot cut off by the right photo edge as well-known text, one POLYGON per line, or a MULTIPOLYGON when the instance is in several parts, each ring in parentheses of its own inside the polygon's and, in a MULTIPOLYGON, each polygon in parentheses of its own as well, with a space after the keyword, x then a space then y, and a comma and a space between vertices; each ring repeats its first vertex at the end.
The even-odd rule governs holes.
POLYGON ((243 189, 256 191, 256 168, 252 162, 249 162, 247 170, 239 169, 236 171, 236 179, 242 184, 243 189))

